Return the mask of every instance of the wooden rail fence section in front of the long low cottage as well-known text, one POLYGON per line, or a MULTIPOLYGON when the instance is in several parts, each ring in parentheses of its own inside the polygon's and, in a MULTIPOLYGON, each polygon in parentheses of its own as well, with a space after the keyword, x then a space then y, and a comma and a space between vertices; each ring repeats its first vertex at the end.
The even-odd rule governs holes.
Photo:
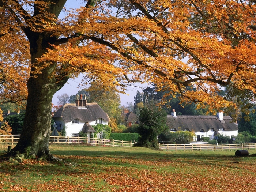
POLYGON ((243 144, 160 144, 159 147, 163 150, 199 150, 199 151, 223 151, 223 150, 251 150, 256 149, 256 143, 243 143, 243 144))

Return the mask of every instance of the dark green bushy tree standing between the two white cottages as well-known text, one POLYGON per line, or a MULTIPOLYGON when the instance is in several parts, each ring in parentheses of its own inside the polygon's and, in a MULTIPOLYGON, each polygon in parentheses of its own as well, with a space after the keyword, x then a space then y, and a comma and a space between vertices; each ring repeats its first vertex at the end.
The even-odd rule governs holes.
POLYGON ((153 102, 140 110, 139 127, 137 128, 140 138, 135 146, 147 147, 158 150, 157 136, 167 129, 166 125, 167 113, 164 109, 156 106, 153 102))

